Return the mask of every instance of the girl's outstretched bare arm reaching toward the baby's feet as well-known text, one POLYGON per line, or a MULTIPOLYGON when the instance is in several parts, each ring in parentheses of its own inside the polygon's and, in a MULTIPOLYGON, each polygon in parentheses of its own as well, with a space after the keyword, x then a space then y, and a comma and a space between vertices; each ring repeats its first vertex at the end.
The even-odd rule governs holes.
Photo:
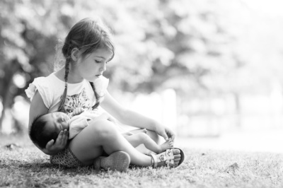
POLYGON ((113 117, 118 119, 123 124, 129 124, 132 127, 139 127, 149 129, 151 131, 156 131, 157 134, 163 136, 164 139, 168 140, 168 137, 175 139, 175 134, 168 127, 163 127, 160 123, 156 122, 154 119, 145 117, 142 114, 129 110, 122 107, 108 91, 105 91, 105 98, 101 102, 101 107, 107 112, 112 114, 113 117))

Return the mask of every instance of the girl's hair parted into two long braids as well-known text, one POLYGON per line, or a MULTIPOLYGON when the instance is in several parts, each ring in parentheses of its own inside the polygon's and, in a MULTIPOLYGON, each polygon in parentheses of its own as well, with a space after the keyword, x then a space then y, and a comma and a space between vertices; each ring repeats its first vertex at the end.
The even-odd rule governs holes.
MULTIPOLYGON (((84 58, 86 55, 91 54, 92 52, 96 51, 96 49, 105 48, 112 52, 112 57, 115 54, 115 48, 112 42, 112 36, 110 34, 109 28, 107 28, 100 20, 93 20, 91 18, 84 18, 76 23, 71 30, 69 31, 64 45, 62 47, 62 54, 64 55, 65 61, 65 89, 63 93, 63 97, 59 102, 58 111, 65 112, 64 109, 64 102, 67 96, 67 89, 68 89, 68 75, 70 63, 71 63, 71 51, 72 49, 77 48, 80 50, 81 57, 84 58)), ((109 61, 110 61, 109 60, 109 61)), ((99 105, 99 98, 100 96, 96 93, 96 88, 91 83, 91 87, 93 88, 93 92, 96 96, 96 104, 93 105, 93 109, 98 107, 99 105)))

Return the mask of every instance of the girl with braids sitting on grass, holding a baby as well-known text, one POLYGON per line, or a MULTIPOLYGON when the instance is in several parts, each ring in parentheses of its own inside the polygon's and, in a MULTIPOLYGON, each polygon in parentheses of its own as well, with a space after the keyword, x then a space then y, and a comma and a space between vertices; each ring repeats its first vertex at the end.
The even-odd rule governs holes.
MULTIPOLYGON (((114 57, 114 45, 108 28, 103 23, 85 18, 69 31, 62 53, 65 66, 47 77, 35 78, 26 90, 30 103, 29 128, 35 117, 50 112, 71 114, 77 107, 95 110, 103 107, 123 124, 145 128, 154 141, 158 135, 174 140, 175 134, 153 119, 125 109, 108 90, 97 91, 93 84, 103 78, 106 65, 114 57)), ((159 155, 144 155, 137 151, 107 120, 98 120, 68 140, 68 132, 61 131, 56 141, 47 143, 44 153, 51 155, 51 163, 76 167, 93 165, 95 168, 126 170, 129 163, 138 166, 162 166, 170 160, 171 165, 183 162, 183 151, 174 148, 159 155), (103 152, 108 158, 101 157, 103 152), (164 156, 167 156, 167 161, 164 156), (161 158, 161 159, 159 159, 161 158)), ((38 147, 38 146, 37 146, 38 147)), ((38 147, 39 148, 39 147, 38 147)))

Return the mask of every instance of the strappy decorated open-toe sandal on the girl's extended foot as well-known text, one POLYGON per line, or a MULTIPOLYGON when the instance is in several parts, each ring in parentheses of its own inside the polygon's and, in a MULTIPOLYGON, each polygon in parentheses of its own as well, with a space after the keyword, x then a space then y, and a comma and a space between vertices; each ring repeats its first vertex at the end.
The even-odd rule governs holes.
POLYGON ((175 167, 173 149, 180 150, 181 159, 180 159, 180 162, 179 162, 178 165, 183 163, 183 161, 185 159, 184 152, 180 148, 170 148, 170 149, 167 149, 166 151, 164 151, 163 153, 159 153, 159 154, 156 154, 156 155, 150 154, 151 158, 152 158, 153 168, 156 168, 157 164, 160 163, 160 162, 163 162, 163 161, 165 161, 167 167, 170 167, 170 168, 175 167))

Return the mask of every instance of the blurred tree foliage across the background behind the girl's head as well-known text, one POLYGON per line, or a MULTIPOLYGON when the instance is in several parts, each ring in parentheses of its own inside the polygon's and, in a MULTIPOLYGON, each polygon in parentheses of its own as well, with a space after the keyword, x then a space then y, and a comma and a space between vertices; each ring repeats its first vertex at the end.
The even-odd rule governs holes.
POLYGON ((249 6, 236 0, 1 1, 3 108, 10 109, 17 95, 26 98, 35 77, 53 71, 58 41, 76 21, 93 16, 115 36, 115 59, 105 73, 110 90, 174 88, 180 111, 188 97, 233 93, 238 101, 243 93, 268 93, 283 81, 282 17, 249 6))

